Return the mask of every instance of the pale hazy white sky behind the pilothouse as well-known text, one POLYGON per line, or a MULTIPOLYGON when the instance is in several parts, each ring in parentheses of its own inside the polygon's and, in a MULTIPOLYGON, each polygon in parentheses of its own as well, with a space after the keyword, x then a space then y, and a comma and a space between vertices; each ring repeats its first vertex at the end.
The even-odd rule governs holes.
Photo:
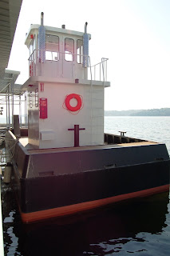
POLYGON ((28 78, 29 52, 24 45, 30 24, 84 31, 92 35, 93 64, 109 58, 105 110, 170 107, 169 0, 23 0, 8 69, 28 78))

